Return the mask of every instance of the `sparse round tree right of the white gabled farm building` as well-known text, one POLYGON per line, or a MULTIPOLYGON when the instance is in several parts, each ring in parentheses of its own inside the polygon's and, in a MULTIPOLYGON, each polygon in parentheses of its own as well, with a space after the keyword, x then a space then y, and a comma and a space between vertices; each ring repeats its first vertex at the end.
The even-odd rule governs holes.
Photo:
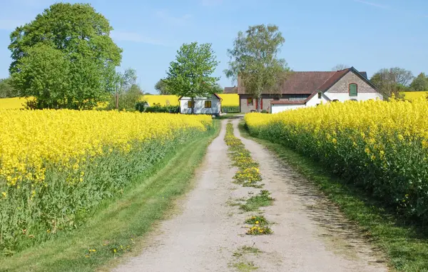
POLYGON ((413 79, 411 71, 394 67, 390 69, 380 69, 372 76, 370 81, 377 86, 379 92, 388 99, 392 94, 401 97, 402 91, 409 91, 409 82, 413 79))

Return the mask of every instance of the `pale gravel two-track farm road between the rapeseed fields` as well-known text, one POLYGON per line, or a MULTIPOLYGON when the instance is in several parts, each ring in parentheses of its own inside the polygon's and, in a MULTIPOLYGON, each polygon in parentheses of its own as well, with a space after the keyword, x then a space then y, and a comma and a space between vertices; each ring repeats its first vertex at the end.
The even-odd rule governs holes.
MULTIPOLYGON (((178 203, 182 212, 161 223, 139 256, 113 271, 387 271, 370 246, 309 183, 263 146, 241 138, 260 163, 263 189, 275 198, 273 206, 261 208, 274 223, 274 233, 245 235, 245 218, 254 213, 243 213, 233 203, 260 188, 233 183, 237 169, 231 166, 223 140, 226 123, 223 120, 220 135, 208 147, 195 187, 178 203), (240 251, 243 246, 261 252, 245 254, 240 251)), ((239 136, 238 120, 233 124, 239 136)))

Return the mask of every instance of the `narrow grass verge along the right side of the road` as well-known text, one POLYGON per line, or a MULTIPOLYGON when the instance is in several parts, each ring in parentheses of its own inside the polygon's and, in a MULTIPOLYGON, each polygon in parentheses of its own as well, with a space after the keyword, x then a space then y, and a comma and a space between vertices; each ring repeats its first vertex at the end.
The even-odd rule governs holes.
POLYGON ((239 129, 242 136, 257 141, 276 153, 297 172, 315 183, 347 218, 358 224, 374 245, 384 251, 389 266, 395 271, 428 271, 427 230, 404 223, 394 211, 385 209, 382 203, 367 196, 360 188, 332 176, 316 161, 278 143, 250 136, 243 122, 239 129))

